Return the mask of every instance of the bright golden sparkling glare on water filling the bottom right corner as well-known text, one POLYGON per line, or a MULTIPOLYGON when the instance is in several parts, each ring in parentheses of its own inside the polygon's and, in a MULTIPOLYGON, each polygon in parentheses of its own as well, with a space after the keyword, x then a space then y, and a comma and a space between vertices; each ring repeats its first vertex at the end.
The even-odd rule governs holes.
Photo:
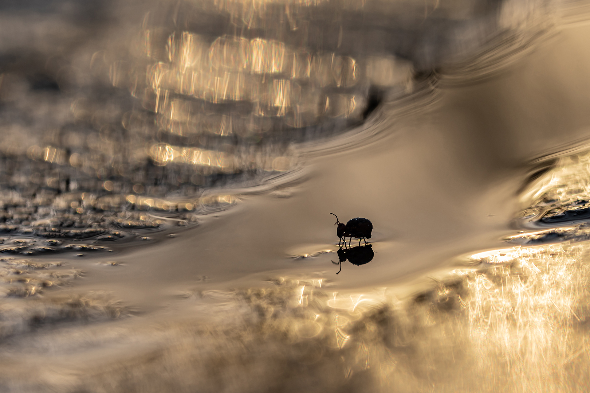
POLYGON ((579 243, 478 253, 475 267, 412 300, 397 300, 392 289, 332 293, 324 302, 335 310, 346 379, 369 369, 375 391, 403 392, 582 386, 590 377, 589 250, 579 243))

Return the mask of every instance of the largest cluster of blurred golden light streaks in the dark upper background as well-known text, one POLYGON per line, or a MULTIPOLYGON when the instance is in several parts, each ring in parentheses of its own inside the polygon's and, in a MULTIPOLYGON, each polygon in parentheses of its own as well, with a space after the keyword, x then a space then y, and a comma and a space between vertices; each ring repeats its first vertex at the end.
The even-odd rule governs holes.
MULTIPOLYGON (((156 58, 154 34, 145 31, 140 41, 150 58, 156 58)), ((361 69, 352 57, 312 53, 273 39, 222 35, 211 45, 206 41, 187 31, 169 35, 162 49, 168 62, 160 58, 144 68, 150 92, 141 93, 137 85, 140 68, 127 71, 121 61, 111 65, 110 78, 115 86, 129 85, 134 96, 143 97, 145 108, 158 113, 169 112, 168 95, 172 91, 211 103, 251 101, 270 106, 271 110, 261 110, 260 114, 289 114, 286 120, 291 127, 317 123, 317 101, 324 96, 323 88, 349 88, 361 81, 393 87, 411 81, 411 66, 391 56, 370 57, 362 62, 361 69), (306 83, 301 88, 291 82, 294 80, 306 83), (302 96, 305 100, 300 104, 302 96)), ((362 95, 332 92, 324 98, 323 113, 329 117, 358 117, 364 105, 362 95)))

